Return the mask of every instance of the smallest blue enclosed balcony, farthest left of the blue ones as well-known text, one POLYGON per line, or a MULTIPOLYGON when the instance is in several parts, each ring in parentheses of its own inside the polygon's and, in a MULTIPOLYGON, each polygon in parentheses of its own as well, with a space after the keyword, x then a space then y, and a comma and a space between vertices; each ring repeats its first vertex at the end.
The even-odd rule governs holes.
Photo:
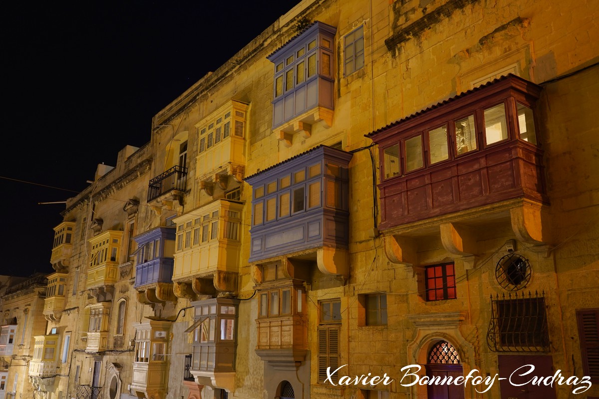
MULTIPOLYGON (((150 299, 157 291, 172 293, 175 251, 174 227, 158 227, 135 237, 135 285, 138 291, 152 290, 150 299), (168 287, 165 287, 168 285, 168 287)), ((167 300, 168 298, 163 298, 167 300)), ((142 301, 145 302, 145 301, 142 301)))

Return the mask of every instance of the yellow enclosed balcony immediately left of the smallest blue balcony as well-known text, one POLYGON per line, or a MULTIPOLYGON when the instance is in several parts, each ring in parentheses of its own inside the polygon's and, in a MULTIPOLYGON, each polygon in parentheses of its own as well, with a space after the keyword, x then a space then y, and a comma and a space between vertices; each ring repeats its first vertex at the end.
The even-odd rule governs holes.
POLYGON ((91 252, 85 288, 92 291, 98 301, 112 299, 118 279, 122 236, 123 232, 108 230, 89 240, 91 252))

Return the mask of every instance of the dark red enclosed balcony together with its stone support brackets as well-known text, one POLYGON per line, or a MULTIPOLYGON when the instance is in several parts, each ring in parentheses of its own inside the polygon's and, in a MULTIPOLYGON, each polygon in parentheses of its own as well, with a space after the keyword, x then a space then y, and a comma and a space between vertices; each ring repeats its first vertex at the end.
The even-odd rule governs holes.
POLYGON ((394 237, 386 240, 392 261, 415 263, 409 241, 427 234, 471 256, 476 230, 489 223, 546 245, 540 93, 510 74, 367 135, 379 145, 379 229, 394 237))

